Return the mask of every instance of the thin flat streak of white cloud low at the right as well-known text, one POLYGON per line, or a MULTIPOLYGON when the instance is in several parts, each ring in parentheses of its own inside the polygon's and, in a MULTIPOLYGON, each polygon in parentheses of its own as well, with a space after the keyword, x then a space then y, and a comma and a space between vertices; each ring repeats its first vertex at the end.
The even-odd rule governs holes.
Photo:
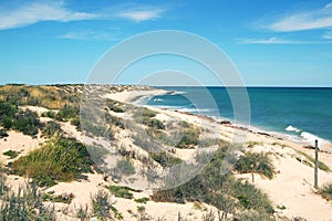
POLYGON ((330 44, 331 41, 293 41, 272 36, 270 39, 238 39, 238 44, 330 44))

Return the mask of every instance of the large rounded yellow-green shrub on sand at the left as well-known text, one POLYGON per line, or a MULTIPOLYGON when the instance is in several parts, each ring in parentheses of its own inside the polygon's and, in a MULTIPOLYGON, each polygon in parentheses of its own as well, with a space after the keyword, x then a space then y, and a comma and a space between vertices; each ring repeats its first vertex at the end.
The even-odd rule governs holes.
POLYGON ((33 178, 41 187, 55 181, 71 181, 89 172, 92 161, 86 147, 63 137, 53 137, 42 148, 31 151, 11 165, 12 173, 33 178))

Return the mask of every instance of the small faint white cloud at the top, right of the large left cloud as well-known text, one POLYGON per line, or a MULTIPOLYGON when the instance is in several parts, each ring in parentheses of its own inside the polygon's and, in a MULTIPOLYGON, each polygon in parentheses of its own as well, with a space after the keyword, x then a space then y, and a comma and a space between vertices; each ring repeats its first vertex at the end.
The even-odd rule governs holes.
POLYGON ((142 21, 158 19, 160 18, 164 11, 165 9, 162 8, 141 6, 141 7, 134 7, 131 9, 123 10, 117 13, 117 17, 127 20, 133 20, 135 22, 142 22, 142 21))

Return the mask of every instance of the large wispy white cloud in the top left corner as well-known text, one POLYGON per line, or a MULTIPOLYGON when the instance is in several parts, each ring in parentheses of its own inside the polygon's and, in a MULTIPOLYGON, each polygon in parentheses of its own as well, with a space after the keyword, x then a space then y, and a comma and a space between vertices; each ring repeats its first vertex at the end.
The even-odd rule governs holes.
POLYGON ((41 21, 77 21, 98 18, 98 14, 76 12, 63 3, 46 1, 25 3, 13 10, 0 10, 0 30, 27 27, 41 21))

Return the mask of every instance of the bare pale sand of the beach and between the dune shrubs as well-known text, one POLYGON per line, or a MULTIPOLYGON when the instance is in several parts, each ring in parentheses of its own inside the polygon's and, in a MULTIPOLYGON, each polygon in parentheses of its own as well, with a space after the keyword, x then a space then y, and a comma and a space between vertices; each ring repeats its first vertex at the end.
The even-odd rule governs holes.
MULTIPOLYGON (((164 90, 143 90, 143 91, 125 91, 112 94, 105 94, 103 98, 114 99, 121 103, 135 104, 135 101, 139 97, 148 97, 153 95, 162 95, 168 92, 164 90)), ((42 114, 46 109, 39 107, 25 107, 32 110, 38 110, 42 114)), ((277 214, 279 217, 287 217, 293 219, 295 217, 305 218, 309 221, 329 221, 332 220, 332 203, 326 201, 317 190, 313 188, 313 168, 309 165, 303 164, 305 161, 304 152, 311 157, 314 156, 312 149, 303 148, 300 144, 292 143, 290 140, 282 140, 271 135, 250 131, 249 129, 239 128, 231 124, 220 124, 220 122, 206 116, 196 116, 193 114, 174 112, 168 109, 160 109, 156 107, 148 107, 157 112, 156 118, 167 124, 174 119, 180 119, 193 124, 197 127, 203 128, 206 133, 205 136, 215 137, 218 139, 227 140, 232 143, 235 137, 241 137, 243 141, 243 150, 250 150, 252 152, 269 152, 272 157, 273 165, 276 167, 276 176, 272 179, 267 179, 259 175, 255 175, 253 185, 262 189, 269 198, 272 200, 274 208, 277 208, 277 214), (250 146, 250 144, 253 144, 250 146), (280 209, 281 208, 281 209, 280 209)), ((122 113, 111 113, 117 117, 125 117, 122 113)), ((43 118, 44 122, 50 119, 43 118)), ((86 140, 82 137, 82 133, 77 131, 76 128, 70 123, 62 123, 62 129, 64 133, 74 137, 77 140, 86 140)), ((131 130, 123 129, 118 130, 115 136, 115 145, 132 147, 135 151, 144 151, 133 144, 129 137, 131 130)), ((91 144, 97 139, 91 140, 91 144)), ((30 136, 22 135, 18 131, 9 131, 9 136, 6 139, 0 140, 0 150, 4 152, 9 149, 17 150, 20 156, 27 155, 29 151, 39 148, 45 140, 38 137, 31 138, 30 136)), ((103 141, 98 139, 97 141, 103 141)), ((95 144, 95 143, 94 143, 95 144)), ((188 160, 194 157, 194 149, 178 149, 176 156, 180 159, 188 160)), ((319 154, 320 160, 332 168, 332 155, 325 151, 319 154)), ((8 157, 1 155, 2 164, 12 161, 8 157)), ((137 168, 142 167, 138 161, 135 161, 137 168)), ((89 203, 91 194, 97 190, 105 190, 106 186, 117 185, 111 178, 106 181, 102 173, 89 173, 85 181, 72 181, 72 182, 60 182, 51 188, 44 189, 44 191, 52 191, 54 194, 73 193, 74 199, 70 204, 70 210, 74 211, 74 208, 79 204, 89 203)), ((251 181, 251 173, 236 175, 237 178, 251 181)), ((137 177, 139 182, 139 177, 137 177)), ((11 187, 18 188, 20 183, 27 181, 23 178, 10 176, 8 182, 11 187)), ((323 170, 319 170, 319 185, 332 182, 332 173, 323 170)), ((135 192, 135 198, 149 197, 151 191, 135 192)), ((114 206, 123 214, 124 220, 136 220, 137 206, 139 203, 112 197, 114 206), (131 212, 132 211, 132 212, 131 212)), ((61 208, 61 204, 56 207, 61 208)), ((217 211, 211 206, 204 206, 206 210, 198 210, 194 208, 190 202, 185 204, 168 203, 168 202, 154 202, 148 201, 144 204, 145 212, 156 218, 164 218, 165 220, 175 220, 180 212, 183 215, 190 218, 191 220, 201 220, 201 215, 206 211, 217 211), (163 209, 160 209, 163 208, 163 209)), ((59 209, 60 210, 60 209, 59 209)), ((63 218, 64 219, 64 218, 63 218)), ((70 220, 69 217, 65 219, 70 220)))

